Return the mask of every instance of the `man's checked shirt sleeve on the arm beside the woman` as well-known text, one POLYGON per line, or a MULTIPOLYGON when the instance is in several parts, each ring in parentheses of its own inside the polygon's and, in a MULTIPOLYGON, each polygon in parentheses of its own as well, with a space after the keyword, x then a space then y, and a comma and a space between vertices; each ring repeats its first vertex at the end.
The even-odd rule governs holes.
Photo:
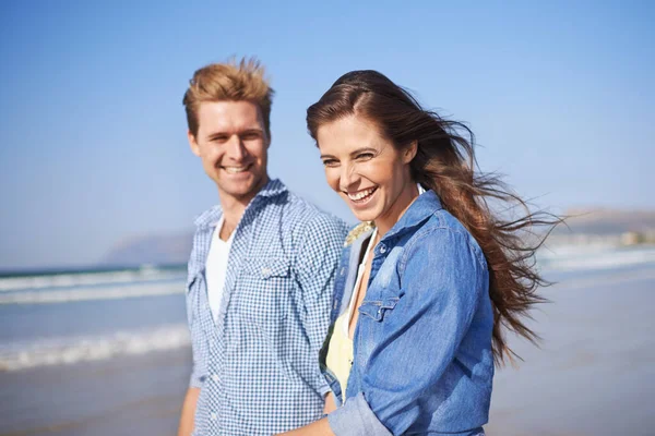
POLYGON ((334 277, 347 231, 342 220, 317 215, 305 229, 296 263, 303 301, 302 327, 311 348, 310 366, 315 367, 314 389, 321 396, 330 387, 320 371, 319 351, 327 335, 334 277))

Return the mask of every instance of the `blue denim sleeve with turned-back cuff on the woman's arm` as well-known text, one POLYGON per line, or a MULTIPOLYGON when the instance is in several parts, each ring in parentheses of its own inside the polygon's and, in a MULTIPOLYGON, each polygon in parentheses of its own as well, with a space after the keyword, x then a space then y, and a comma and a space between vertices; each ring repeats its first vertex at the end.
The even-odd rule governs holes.
POLYGON ((361 370, 361 391, 329 417, 338 436, 405 434, 448 400, 436 387, 444 386, 441 378, 488 290, 488 271, 462 231, 440 227, 417 237, 397 264, 393 310, 381 320, 360 311, 358 323, 376 323, 367 326, 376 329, 376 343, 361 370))

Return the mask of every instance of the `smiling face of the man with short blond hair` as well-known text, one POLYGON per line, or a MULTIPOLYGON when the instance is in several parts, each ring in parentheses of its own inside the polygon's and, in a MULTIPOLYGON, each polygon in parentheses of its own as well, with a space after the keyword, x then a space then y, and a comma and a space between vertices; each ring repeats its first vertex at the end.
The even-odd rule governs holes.
POLYGON ((261 112, 250 101, 205 101, 198 109, 198 135, 189 132, 193 154, 218 186, 222 199, 247 203, 266 184, 271 140, 261 112))

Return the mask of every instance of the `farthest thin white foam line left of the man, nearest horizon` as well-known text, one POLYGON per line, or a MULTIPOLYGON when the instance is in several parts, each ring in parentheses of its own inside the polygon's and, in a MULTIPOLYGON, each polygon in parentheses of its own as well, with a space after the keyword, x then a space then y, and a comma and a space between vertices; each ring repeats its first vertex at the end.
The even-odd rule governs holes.
POLYGON ((27 289, 72 288, 112 283, 148 282, 183 277, 183 271, 141 268, 138 270, 52 274, 46 276, 0 278, 0 292, 27 289))

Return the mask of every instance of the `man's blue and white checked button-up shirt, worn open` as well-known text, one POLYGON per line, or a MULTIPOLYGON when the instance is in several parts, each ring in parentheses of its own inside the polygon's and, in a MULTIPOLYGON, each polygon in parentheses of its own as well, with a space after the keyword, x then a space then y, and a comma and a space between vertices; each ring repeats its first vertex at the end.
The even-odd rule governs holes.
POLYGON ((318 365, 345 223, 270 181, 235 229, 216 322, 205 262, 218 206, 196 221, 187 312, 194 435, 272 435, 321 417, 329 387, 318 365))

